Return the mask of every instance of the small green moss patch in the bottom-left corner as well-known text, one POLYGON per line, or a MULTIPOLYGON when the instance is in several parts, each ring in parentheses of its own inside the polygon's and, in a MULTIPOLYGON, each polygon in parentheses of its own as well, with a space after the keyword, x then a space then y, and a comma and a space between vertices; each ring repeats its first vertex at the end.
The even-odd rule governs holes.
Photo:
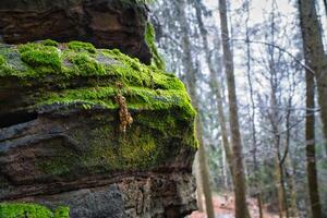
POLYGON ((1 203, 2 218, 69 218, 69 207, 60 207, 55 214, 48 208, 31 203, 1 203))

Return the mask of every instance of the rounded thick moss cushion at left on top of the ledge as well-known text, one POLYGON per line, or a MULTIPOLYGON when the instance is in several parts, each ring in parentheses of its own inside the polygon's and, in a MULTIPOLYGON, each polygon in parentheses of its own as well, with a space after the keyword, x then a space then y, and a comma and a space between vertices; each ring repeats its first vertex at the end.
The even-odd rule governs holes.
POLYGON ((19 46, 22 60, 40 72, 58 72, 61 69, 60 52, 52 46, 25 44, 19 46))

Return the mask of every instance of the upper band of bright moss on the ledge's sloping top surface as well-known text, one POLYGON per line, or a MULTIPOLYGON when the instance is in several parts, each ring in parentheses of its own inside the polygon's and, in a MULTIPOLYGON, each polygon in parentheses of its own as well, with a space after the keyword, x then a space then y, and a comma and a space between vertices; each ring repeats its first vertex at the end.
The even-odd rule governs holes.
MULTIPOLYGON (((72 45, 76 47, 76 44, 72 45)), ((55 75, 52 83, 58 84, 78 76, 97 76, 105 77, 109 83, 121 82, 125 86, 184 90, 183 84, 174 75, 147 66, 118 49, 98 49, 95 53, 89 53, 80 49, 26 44, 19 46, 17 50, 19 53, 15 48, 0 48, 0 55, 8 55, 3 56, 4 59, 20 56, 15 63, 7 61, 0 65, 0 77, 14 76, 19 78, 19 83, 29 81, 41 84, 49 83, 48 76, 55 75)))

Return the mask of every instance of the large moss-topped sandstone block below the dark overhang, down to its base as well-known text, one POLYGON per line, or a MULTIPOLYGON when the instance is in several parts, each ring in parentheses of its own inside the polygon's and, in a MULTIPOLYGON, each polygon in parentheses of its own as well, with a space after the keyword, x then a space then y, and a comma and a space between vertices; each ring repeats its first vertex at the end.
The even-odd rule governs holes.
POLYGON ((174 75, 46 40, 1 45, 0 84, 0 202, 68 206, 72 218, 195 209, 195 112, 174 75))

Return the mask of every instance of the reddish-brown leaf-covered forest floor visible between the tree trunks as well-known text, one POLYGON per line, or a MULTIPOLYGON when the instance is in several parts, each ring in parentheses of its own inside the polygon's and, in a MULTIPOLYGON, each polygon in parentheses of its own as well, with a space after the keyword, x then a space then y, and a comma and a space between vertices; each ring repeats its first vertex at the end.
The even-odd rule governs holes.
MULTIPOLYGON (((215 195, 214 196, 214 208, 216 218, 233 218, 234 217, 234 201, 232 195, 228 197, 226 201, 226 196, 215 195)), ((252 218, 258 218, 258 208, 256 205, 256 201, 254 198, 249 199, 249 209, 251 213, 252 218)), ((205 213, 193 211, 190 218, 206 218, 205 213)), ((278 218, 278 215, 270 214, 264 209, 264 217, 265 218, 278 218)))

